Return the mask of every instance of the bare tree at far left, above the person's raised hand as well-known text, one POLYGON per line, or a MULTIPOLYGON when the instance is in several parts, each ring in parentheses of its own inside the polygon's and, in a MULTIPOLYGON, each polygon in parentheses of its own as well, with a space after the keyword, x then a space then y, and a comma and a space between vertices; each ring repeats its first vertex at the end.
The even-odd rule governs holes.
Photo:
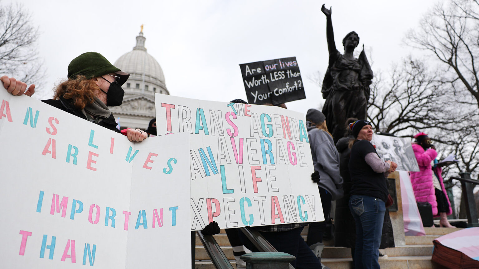
POLYGON ((38 28, 21 4, 0 2, 0 74, 28 84, 43 80, 42 60, 36 50, 38 28))

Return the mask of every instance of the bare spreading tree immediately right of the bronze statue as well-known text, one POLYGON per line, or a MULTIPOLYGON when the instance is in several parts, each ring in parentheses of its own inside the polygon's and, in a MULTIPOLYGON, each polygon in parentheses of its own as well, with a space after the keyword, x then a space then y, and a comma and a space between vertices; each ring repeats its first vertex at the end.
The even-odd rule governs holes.
POLYGON ((409 58, 383 77, 381 72, 376 75, 368 103, 368 119, 376 131, 411 137, 437 126, 450 130, 451 123, 468 117, 444 106, 445 83, 419 60, 409 58))

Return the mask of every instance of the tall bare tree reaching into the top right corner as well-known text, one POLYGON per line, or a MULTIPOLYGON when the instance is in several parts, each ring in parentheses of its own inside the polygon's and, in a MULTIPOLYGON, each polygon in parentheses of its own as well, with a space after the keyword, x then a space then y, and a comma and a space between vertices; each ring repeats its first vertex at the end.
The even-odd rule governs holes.
POLYGON ((478 25, 477 0, 451 0, 446 6, 437 4, 406 40, 413 47, 432 52, 443 64, 443 81, 451 85, 459 103, 479 107, 478 25))

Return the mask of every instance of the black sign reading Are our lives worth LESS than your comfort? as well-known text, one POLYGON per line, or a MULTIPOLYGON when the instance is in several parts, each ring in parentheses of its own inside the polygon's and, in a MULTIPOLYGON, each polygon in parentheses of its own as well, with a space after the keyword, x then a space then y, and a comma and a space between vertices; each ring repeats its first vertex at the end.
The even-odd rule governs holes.
POLYGON ((274 105, 305 99, 296 57, 239 65, 250 104, 274 105))

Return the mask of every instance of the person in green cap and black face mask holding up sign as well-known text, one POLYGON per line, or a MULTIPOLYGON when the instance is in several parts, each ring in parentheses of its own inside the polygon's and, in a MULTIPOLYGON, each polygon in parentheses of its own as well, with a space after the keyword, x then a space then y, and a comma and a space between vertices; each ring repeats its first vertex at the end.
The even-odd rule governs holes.
MULTIPOLYGON (((55 89, 55 96, 43 102, 96 123, 112 131, 125 134, 132 142, 143 141, 147 133, 140 129, 118 130, 114 115, 108 107, 119 106, 125 91, 121 86, 130 75, 114 67, 103 55, 86 52, 68 65, 68 79, 55 89)), ((3 86, 13 95, 32 96, 35 85, 2 76, 3 86)))

